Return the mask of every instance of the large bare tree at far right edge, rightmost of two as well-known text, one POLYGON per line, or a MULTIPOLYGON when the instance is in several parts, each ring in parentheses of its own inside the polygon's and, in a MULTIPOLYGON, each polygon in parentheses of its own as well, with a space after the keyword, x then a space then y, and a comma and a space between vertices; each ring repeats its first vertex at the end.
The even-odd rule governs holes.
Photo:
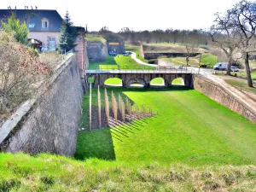
POLYGON ((243 55, 247 71, 247 84, 253 87, 251 71, 249 66, 249 55, 256 51, 255 32, 256 32, 256 2, 242 0, 233 9, 228 10, 232 20, 232 25, 239 38, 239 49, 243 55))

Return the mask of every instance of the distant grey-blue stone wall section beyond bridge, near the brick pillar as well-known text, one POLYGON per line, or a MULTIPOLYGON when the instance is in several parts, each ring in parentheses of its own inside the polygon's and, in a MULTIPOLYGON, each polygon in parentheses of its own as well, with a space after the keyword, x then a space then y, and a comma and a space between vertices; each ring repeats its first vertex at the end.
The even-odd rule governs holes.
POLYGON ((107 43, 95 44, 87 42, 87 53, 89 61, 106 61, 108 55, 107 43))

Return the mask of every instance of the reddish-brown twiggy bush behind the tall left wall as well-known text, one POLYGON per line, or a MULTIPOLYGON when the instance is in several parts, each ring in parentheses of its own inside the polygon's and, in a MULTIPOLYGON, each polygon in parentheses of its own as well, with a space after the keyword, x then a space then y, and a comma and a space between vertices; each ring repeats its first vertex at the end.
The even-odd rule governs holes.
POLYGON ((32 96, 38 82, 51 70, 31 49, 15 41, 13 33, 0 31, 0 119, 32 96))

